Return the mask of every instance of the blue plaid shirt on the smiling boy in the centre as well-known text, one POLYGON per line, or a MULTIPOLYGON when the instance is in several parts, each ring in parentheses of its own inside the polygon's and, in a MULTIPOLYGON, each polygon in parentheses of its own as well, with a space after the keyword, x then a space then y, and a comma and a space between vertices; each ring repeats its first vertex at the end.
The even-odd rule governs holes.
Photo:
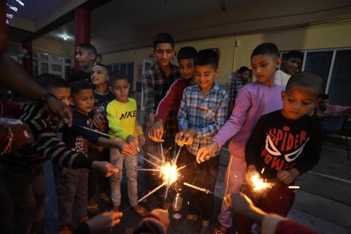
MULTIPOLYGON (((202 96, 199 84, 189 86, 183 91, 178 111, 179 129, 196 129, 197 137, 192 145, 187 145, 193 155, 199 148, 211 142, 225 123, 228 108, 228 95, 215 83, 213 88, 202 96)), ((218 149, 211 157, 220 155, 218 149)))

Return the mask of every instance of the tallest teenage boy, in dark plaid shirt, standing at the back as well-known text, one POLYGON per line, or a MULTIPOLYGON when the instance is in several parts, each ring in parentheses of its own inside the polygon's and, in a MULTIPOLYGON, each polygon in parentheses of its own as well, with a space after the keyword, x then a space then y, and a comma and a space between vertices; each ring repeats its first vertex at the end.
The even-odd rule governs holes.
MULTIPOLYGON (((143 122, 143 132, 148 133, 154 124, 154 115, 158 103, 166 96, 166 92, 173 82, 180 77, 179 68, 171 63, 174 51, 174 39, 173 37, 162 32, 154 37, 154 56, 156 57, 156 62, 149 67, 143 75, 143 89, 144 89, 144 105, 145 105, 145 118, 143 122)), ((176 135, 176 109, 172 108, 169 112, 168 118, 164 124, 165 129, 167 129, 164 141, 164 148, 168 149, 174 145, 173 138, 176 135)), ((145 157, 148 159, 147 153, 151 155, 157 155, 157 143, 154 143, 148 136, 145 136, 146 141, 143 146, 145 151, 145 157)), ((167 150, 164 150, 166 152, 167 150)), ((173 155, 173 148, 168 150, 169 155, 173 155)), ((145 167, 151 167, 151 165, 146 162, 145 167)), ((145 181, 147 189, 152 190, 157 187, 157 181, 152 176, 152 174, 145 173, 145 181)), ((161 194, 158 194, 161 197, 161 194)), ((165 207, 166 208, 166 207, 165 207)))

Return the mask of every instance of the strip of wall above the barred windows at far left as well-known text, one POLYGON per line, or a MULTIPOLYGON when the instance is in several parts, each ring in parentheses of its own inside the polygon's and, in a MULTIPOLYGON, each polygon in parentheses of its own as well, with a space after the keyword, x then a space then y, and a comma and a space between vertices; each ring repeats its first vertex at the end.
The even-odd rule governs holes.
POLYGON ((74 58, 74 45, 40 37, 32 41, 33 51, 50 53, 55 56, 74 58))

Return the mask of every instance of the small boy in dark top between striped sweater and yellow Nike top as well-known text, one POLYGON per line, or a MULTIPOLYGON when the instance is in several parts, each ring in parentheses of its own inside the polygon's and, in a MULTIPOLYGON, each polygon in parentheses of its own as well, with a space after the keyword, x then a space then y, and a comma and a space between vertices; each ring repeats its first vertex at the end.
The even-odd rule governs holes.
MULTIPOLYGON (((91 85, 87 82, 73 82, 71 86, 71 103, 74 105, 73 126, 64 127, 62 141, 72 151, 86 154, 90 141, 95 145, 107 148, 121 148, 124 145, 125 153, 133 155, 133 150, 138 150, 134 145, 123 141, 111 141, 100 134, 91 131, 91 111, 93 110, 94 94, 91 85)), ((105 162, 107 163, 107 162, 105 162)), ((110 164, 112 167, 112 165, 110 164)), ((69 169, 60 167, 58 175, 58 200, 60 230, 69 230, 72 222, 72 207, 75 203, 79 223, 88 220, 87 216, 87 193, 88 193, 88 169, 69 169)), ((115 170, 116 172, 118 170, 115 170)))

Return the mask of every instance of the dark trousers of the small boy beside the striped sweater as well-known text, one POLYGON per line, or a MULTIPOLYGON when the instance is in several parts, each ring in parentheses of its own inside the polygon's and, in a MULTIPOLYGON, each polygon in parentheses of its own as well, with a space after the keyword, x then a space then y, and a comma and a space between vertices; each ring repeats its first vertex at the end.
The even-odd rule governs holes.
POLYGON ((76 208, 78 219, 87 214, 88 169, 70 169, 64 167, 56 183, 58 190, 58 214, 60 226, 72 222, 72 208, 76 208))

